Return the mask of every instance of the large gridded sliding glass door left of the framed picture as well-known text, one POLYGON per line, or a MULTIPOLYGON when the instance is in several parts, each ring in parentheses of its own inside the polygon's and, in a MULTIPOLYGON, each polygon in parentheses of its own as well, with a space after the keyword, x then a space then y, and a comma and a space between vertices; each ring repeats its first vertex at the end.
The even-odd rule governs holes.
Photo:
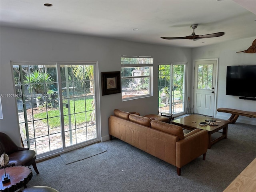
POLYGON ((12 66, 24 146, 40 157, 99 140, 96 63, 12 62, 12 66))

